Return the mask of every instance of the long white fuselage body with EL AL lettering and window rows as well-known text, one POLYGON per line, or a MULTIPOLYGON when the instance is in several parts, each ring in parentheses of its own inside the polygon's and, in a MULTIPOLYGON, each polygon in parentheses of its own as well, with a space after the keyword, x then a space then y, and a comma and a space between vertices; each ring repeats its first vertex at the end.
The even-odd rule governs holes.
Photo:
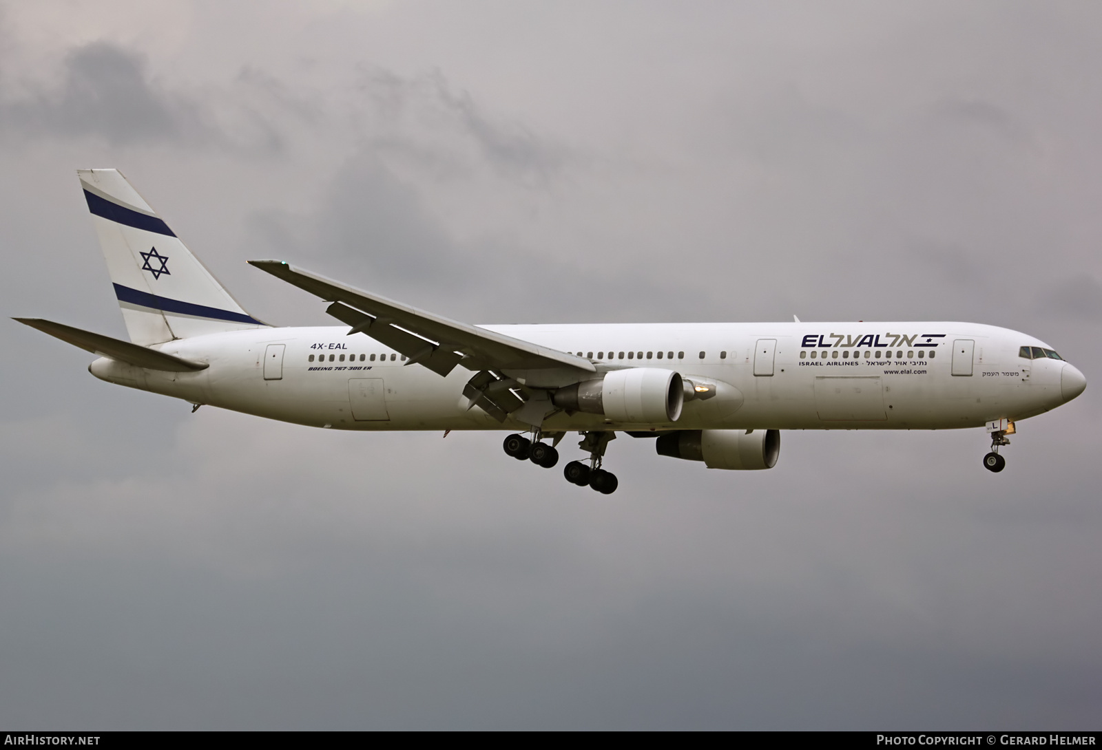
MULTIPOLYGON (((973 427, 1060 405, 1066 401, 1061 373, 1071 367, 1058 359, 1019 357, 1022 346, 1046 346, 1031 336, 963 323, 485 328, 580 354, 594 361, 598 374, 655 367, 720 385, 719 398, 685 402, 676 423, 618 423, 559 410, 548 416, 544 431, 973 427)), ((192 403, 318 427, 528 428, 514 419, 501 423, 478 407, 468 409, 462 393, 469 370, 456 367, 441 377, 418 365, 404 366, 400 355, 366 335, 347 336, 347 330, 261 328, 154 347, 209 365, 198 372, 144 370, 111 359, 99 359, 89 370, 114 383, 192 403)), ((523 372, 506 374, 525 382, 523 372)))

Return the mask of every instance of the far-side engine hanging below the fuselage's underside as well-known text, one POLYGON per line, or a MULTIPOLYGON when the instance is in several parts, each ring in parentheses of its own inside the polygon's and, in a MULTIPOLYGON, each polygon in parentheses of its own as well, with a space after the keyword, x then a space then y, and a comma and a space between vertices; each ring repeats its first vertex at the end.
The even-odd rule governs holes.
POLYGON ((710 469, 771 469, 780 456, 779 430, 679 430, 661 435, 659 456, 704 461, 710 469))

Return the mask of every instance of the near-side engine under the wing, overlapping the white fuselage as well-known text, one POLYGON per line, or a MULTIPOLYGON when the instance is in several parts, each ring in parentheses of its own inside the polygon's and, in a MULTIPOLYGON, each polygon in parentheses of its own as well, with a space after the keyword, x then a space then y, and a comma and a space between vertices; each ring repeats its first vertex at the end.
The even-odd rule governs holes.
POLYGON ((615 422, 677 422, 684 387, 673 370, 636 367, 560 388, 551 401, 570 411, 604 414, 615 422))

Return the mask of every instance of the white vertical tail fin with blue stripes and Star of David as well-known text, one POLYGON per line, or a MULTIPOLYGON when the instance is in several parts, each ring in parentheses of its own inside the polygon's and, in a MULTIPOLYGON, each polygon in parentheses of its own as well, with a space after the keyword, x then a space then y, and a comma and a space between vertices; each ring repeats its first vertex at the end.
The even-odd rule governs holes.
POLYGON ((260 328, 118 170, 77 170, 130 340, 260 328))

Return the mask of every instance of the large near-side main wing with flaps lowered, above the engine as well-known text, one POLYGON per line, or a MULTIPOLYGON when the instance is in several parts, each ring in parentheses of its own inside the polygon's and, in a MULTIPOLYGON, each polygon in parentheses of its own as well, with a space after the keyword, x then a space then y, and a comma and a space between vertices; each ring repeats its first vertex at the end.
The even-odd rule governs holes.
POLYGON ((387 297, 296 269, 278 260, 250 260, 261 271, 333 304, 326 313, 406 355, 407 365, 423 365, 446 376, 456 365, 468 370, 576 368, 596 372, 587 359, 541 347, 478 326, 452 320, 387 297))

